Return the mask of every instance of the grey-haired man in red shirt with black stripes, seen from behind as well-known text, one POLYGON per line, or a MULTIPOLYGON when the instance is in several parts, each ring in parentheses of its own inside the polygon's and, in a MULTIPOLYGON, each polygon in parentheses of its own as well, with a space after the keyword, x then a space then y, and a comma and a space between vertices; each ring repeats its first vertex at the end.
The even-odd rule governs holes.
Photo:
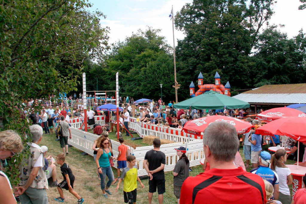
POLYGON ((238 148, 236 128, 228 122, 212 122, 203 134, 210 170, 184 181, 180 203, 266 203, 263 179, 234 165, 238 148))

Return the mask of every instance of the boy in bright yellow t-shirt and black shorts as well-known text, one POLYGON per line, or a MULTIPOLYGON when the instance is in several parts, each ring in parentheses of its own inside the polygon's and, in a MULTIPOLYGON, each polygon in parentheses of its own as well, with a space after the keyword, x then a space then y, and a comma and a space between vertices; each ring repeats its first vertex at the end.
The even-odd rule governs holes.
POLYGON ((125 167, 122 171, 121 178, 115 189, 118 192, 119 185, 124 180, 123 184, 123 197, 124 202, 129 204, 136 204, 137 198, 137 181, 140 183, 141 187, 144 188, 144 184, 141 182, 140 178, 137 175, 137 165, 136 157, 134 155, 127 156, 128 166, 125 167))

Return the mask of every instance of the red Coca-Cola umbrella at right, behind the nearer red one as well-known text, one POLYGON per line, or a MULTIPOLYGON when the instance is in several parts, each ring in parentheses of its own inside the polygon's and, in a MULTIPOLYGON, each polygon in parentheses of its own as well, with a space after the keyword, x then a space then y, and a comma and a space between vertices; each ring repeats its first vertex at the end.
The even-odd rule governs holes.
POLYGON ((287 117, 306 117, 306 114, 293 108, 281 107, 272 108, 257 115, 259 120, 265 122, 271 122, 273 120, 287 117))

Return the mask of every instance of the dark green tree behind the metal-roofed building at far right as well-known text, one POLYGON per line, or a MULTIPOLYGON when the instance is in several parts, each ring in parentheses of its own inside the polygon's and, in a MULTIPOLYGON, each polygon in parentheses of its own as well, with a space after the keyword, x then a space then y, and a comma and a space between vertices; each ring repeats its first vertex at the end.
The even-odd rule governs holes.
POLYGON ((288 39, 287 34, 277 31, 275 26, 265 29, 255 46, 255 86, 305 82, 305 48, 302 30, 295 39, 288 39))

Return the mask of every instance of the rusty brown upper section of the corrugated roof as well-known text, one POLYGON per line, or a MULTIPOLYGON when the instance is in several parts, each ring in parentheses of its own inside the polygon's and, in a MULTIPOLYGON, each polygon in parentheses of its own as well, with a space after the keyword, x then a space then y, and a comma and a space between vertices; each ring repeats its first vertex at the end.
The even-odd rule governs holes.
POLYGON ((306 84, 264 85, 244 93, 306 93, 306 84))

